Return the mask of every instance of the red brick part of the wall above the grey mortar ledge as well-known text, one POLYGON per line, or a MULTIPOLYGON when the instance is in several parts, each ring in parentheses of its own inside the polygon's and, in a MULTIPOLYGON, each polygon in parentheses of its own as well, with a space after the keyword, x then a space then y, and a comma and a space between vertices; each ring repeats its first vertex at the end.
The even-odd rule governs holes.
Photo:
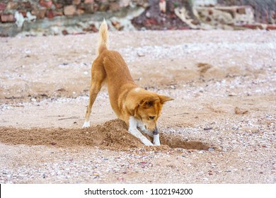
POLYGON ((57 16, 78 16, 85 13, 116 12, 132 6, 145 6, 146 0, 4 0, 0 2, 1 23, 16 22, 18 11, 24 18, 36 20, 57 16))

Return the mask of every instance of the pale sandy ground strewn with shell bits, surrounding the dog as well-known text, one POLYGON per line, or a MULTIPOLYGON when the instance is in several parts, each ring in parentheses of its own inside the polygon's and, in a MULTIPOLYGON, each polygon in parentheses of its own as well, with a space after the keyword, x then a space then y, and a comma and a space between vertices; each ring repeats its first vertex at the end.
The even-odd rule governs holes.
POLYGON ((150 147, 106 88, 81 129, 97 38, 0 38, 1 183, 276 183, 276 32, 110 33, 135 81, 175 98, 150 147))

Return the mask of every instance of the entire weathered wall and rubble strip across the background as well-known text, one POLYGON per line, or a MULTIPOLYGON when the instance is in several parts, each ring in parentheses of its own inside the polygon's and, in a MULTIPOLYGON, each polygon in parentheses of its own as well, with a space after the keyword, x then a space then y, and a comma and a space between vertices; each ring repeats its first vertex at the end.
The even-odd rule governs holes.
POLYGON ((111 30, 274 29, 276 0, 3 0, 0 36, 111 30))

